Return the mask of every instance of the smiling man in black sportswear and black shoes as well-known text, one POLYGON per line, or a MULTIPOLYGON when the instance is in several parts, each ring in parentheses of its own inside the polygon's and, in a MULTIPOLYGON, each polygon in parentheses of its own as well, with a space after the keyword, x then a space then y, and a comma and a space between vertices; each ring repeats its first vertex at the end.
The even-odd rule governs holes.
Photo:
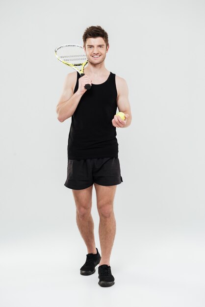
POLYGON ((130 125, 131 111, 126 81, 104 65, 109 50, 107 33, 101 26, 90 26, 83 34, 83 44, 88 59, 85 75, 67 75, 56 112, 60 122, 72 117, 65 186, 73 191, 77 226, 88 252, 80 274, 95 273, 99 264, 99 284, 111 286, 115 280, 110 267, 116 232, 113 201, 116 186, 122 182, 116 128, 130 125), (91 84, 91 89, 86 90, 85 84, 91 84), (115 115, 117 108, 125 113, 125 120, 115 115), (102 257, 95 245, 91 216, 93 185, 100 216, 102 257))

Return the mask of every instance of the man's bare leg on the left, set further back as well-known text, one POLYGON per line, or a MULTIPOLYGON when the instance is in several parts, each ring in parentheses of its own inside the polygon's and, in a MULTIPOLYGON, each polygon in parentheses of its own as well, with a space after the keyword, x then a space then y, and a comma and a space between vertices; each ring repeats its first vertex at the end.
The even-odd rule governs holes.
POLYGON ((73 190, 76 202, 76 221, 80 234, 87 246, 87 253, 97 254, 94 223, 91 215, 93 185, 83 190, 73 190))

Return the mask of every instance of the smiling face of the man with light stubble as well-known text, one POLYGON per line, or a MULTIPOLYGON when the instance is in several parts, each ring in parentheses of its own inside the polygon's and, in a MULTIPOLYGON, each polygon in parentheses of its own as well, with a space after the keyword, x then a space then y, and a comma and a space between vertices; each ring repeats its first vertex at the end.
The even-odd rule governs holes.
POLYGON ((84 47, 88 62, 94 65, 104 61, 108 49, 102 37, 88 38, 84 47))

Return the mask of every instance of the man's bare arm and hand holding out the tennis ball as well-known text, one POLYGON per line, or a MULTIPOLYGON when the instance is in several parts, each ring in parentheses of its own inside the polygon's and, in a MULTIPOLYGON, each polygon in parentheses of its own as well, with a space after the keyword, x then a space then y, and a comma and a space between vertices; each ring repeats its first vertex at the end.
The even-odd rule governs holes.
POLYGON ((117 128, 126 128, 131 124, 132 116, 131 116, 131 109, 128 100, 128 85, 126 81, 116 76, 116 88, 118 92, 117 96, 117 106, 120 112, 125 113, 125 120, 122 120, 120 116, 114 116, 112 120, 112 125, 117 128))

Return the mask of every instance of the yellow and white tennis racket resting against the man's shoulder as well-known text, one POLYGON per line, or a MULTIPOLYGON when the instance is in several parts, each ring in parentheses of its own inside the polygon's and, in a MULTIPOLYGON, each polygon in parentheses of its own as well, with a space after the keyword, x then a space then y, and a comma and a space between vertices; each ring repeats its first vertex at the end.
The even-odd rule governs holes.
MULTIPOLYGON (((62 45, 55 49, 55 55, 59 61, 75 69, 80 77, 84 76, 84 67, 87 64, 87 57, 84 49, 80 45, 62 45)), ((85 89, 89 90, 90 84, 85 84, 85 89)))

